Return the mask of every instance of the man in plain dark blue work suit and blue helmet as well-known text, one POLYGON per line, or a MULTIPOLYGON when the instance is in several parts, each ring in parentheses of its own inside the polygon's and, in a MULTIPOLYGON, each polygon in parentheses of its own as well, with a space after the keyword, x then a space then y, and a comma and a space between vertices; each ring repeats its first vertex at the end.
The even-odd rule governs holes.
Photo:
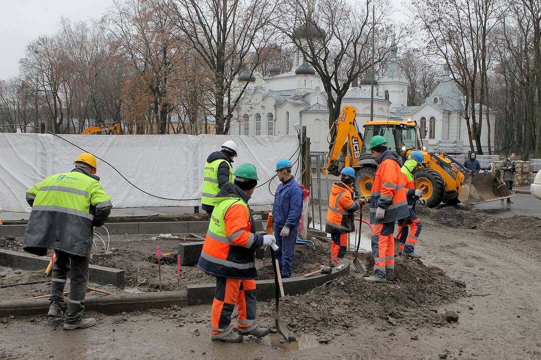
POLYGON ((293 164, 288 159, 276 162, 276 175, 282 183, 276 189, 272 213, 276 245, 280 247, 276 251, 276 259, 280 264, 282 277, 291 277, 293 273, 293 255, 304 196, 304 191, 291 174, 292 167, 293 164))

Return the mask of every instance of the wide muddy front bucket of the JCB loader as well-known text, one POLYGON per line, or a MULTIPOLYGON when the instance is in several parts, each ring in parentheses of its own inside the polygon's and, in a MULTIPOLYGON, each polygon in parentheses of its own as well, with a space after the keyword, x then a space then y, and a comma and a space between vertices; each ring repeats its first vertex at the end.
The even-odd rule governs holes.
POLYGON ((513 193, 499 179, 497 173, 467 174, 458 200, 477 205, 483 202, 511 198, 513 193))

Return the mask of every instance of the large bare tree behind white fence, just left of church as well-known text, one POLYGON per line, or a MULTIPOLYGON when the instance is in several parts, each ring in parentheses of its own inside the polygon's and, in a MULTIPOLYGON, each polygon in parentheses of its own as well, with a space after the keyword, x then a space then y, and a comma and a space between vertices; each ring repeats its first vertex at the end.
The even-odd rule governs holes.
MULTIPOLYGON (((274 43, 282 1, 169 1, 171 23, 190 41, 214 79, 214 119, 217 134, 227 134, 234 110, 246 86, 233 93, 239 63, 250 56, 251 73, 259 66, 262 49, 274 43)), ((251 75, 250 75, 251 76, 251 75)), ((247 84, 246 84, 247 85, 247 84)))

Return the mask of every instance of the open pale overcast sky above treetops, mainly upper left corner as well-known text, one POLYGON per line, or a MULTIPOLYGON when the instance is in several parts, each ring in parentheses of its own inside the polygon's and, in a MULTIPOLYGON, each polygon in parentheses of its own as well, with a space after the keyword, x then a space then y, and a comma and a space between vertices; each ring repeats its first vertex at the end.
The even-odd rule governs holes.
MULTIPOLYGON (((405 21, 403 0, 391 0, 395 18, 405 21)), ((72 21, 99 19, 113 0, 0 0, 0 79, 17 75, 25 46, 41 35, 58 31, 60 18, 72 21)))

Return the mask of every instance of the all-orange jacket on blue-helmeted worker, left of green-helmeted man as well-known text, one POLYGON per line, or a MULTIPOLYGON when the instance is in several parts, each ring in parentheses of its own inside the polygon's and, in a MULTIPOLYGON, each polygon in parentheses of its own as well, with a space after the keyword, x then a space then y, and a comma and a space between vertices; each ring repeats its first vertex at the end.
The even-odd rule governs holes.
POLYGON ((329 195, 327 209, 327 233, 351 233, 355 231, 353 213, 359 209, 359 204, 353 201, 353 190, 344 182, 335 182, 329 195))

